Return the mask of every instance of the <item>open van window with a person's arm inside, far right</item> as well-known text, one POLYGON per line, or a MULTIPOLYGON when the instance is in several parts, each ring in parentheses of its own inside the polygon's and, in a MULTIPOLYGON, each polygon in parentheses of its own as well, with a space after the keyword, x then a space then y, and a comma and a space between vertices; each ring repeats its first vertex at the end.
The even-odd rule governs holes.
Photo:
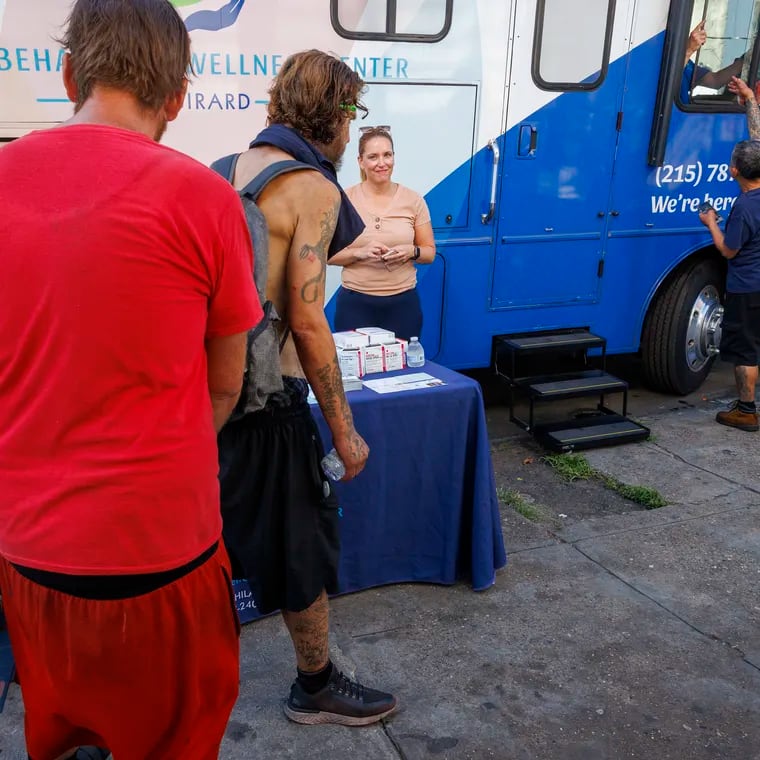
POLYGON ((704 23, 707 39, 696 52, 690 51, 686 41, 688 58, 677 95, 681 107, 690 111, 735 109, 736 98, 726 85, 732 76, 750 86, 757 80, 759 14, 760 0, 693 2, 689 30, 697 30, 704 23))

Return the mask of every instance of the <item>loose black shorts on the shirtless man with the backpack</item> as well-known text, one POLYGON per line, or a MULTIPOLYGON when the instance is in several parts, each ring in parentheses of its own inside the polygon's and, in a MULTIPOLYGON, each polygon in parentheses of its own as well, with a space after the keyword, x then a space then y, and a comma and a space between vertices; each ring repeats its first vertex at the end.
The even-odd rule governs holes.
POLYGON ((338 504, 308 404, 247 414, 218 443, 224 542, 259 611, 301 612, 336 593, 338 504))

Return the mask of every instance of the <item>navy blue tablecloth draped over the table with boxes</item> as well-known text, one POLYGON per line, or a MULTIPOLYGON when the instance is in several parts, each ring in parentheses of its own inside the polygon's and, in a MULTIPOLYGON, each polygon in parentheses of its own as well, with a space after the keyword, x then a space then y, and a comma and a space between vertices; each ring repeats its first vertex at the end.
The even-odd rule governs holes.
MULTIPOLYGON (((506 563, 480 386, 427 362, 446 384, 378 394, 351 391, 356 429, 370 447, 364 471, 335 484, 342 514, 342 592, 388 583, 470 580, 493 584, 506 563)), ((325 448, 331 437, 312 407, 325 448)), ((236 582, 244 622, 256 617, 245 582, 236 582)))

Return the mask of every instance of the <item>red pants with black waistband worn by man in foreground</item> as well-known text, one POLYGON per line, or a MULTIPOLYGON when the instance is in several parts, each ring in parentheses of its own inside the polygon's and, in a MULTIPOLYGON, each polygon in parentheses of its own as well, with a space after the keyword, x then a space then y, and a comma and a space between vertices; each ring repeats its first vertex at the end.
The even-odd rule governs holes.
POLYGON ((92 601, 0 558, 27 752, 108 747, 117 760, 215 760, 238 694, 239 625, 222 544, 149 594, 92 601))

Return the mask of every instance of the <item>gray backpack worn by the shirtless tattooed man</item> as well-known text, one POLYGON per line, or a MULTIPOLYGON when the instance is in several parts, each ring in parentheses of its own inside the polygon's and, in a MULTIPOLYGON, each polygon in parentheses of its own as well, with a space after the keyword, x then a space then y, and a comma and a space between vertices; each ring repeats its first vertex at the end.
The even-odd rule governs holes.
MULTIPOLYGON (((211 168, 232 182, 235 176, 239 153, 225 156, 211 164, 211 168)), ((286 329, 278 339, 275 323, 280 321, 277 310, 271 301, 266 300, 267 274, 269 270, 269 232, 267 221, 256 205, 261 191, 275 178, 287 172, 301 169, 314 169, 300 161, 277 161, 257 174, 244 188, 239 190, 240 200, 248 222, 248 231, 253 243, 253 279, 259 300, 264 309, 264 318, 248 331, 248 352, 243 390, 230 420, 238 420, 250 412, 263 409, 267 399, 282 390, 282 372, 280 371, 280 351, 288 337, 286 329)))

